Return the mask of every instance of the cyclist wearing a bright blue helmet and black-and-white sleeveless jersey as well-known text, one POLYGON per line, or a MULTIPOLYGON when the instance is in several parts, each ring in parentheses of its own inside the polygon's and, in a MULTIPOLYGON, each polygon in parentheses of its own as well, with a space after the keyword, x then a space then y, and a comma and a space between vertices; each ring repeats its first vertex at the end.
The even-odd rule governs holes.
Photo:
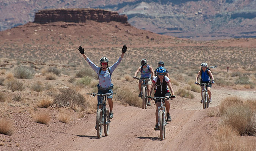
MULTIPOLYGON (((156 85, 156 90, 155 90, 155 97, 170 97, 172 94, 172 97, 175 98, 174 95, 174 91, 173 88, 171 86, 171 82, 170 79, 165 76, 165 72, 166 69, 162 66, 160 66, 157 69, 157 76, 154 77, 152 85, 151 85, 151 89, 150 89, 150 95, 152 94, 152 91, 154 89, 154 86, 156 85), (170 88, 170 91, 168 89, 168 87, 170 88)), ((148 98, 151 98, 151 96, 149 96, 148 98)), ((171 98, 171 99, 173 99, 171 98)), ((155 124, 155 130, 159 130, 159 126, 158 126, 158 107, 160 107, 161 103, 160 100, 155 100, 155 105, 156 105, 156 110, 155 110, 155 120, 156 120, 156 124, 155 124)), ((171 116, 170 116, 170 102, 168 100, 165 99, 165 106, 166 106, 166 116, 167 116, 167 121, 171 121, 171 116)))

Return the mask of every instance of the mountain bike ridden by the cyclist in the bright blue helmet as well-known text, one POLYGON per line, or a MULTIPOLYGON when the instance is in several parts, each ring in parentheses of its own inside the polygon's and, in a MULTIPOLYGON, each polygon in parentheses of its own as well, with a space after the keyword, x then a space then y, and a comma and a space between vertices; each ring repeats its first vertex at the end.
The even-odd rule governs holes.
MULTIPOLYGON (((171 98, 174 98, 171 96, 171 98)), ((160 130, 160 138, 164 140, 165 138, 165 126, 167 124, 166 114, 165 114, 165 105, 163 104, 163 100, 169 100, 170 97, 152 97, 153 100, 160 100, 161 105, 158 107, 158 126, 160 130)))

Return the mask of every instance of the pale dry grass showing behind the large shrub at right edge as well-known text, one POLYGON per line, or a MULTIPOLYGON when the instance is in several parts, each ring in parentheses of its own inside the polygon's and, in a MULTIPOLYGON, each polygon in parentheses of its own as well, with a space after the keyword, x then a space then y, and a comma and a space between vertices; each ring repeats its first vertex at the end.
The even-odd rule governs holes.
POLYGON ((243 99, 237 96, 230 96, 226 97, 224 100, 221 101, 219 110, 220 114, 224 114, 226 112, 226 109, 231 105, 242 105, 243 99))

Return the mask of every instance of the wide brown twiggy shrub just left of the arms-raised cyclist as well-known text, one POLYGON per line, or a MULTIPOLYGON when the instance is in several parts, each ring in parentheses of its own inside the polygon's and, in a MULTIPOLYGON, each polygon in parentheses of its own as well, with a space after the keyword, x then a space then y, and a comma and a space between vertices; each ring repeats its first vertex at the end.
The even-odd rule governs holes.
POLYGON ((54 98, 54 103, 61 104, 64 106, 69 106, 71 108, 80 106, 85 106, 85 98, 82 94, 77 93, 75 90, 68 89, 60 89, 60 94, 57 94, 54 98))

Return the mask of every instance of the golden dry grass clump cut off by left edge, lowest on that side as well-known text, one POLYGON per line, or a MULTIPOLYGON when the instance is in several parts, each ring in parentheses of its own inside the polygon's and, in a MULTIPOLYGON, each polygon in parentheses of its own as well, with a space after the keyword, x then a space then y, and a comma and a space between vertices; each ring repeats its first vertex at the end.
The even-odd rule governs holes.
POLYGON ((7 119, 0 119, 0 134, 11 135, 13 134, 14 126, 13 122, 7 119))

